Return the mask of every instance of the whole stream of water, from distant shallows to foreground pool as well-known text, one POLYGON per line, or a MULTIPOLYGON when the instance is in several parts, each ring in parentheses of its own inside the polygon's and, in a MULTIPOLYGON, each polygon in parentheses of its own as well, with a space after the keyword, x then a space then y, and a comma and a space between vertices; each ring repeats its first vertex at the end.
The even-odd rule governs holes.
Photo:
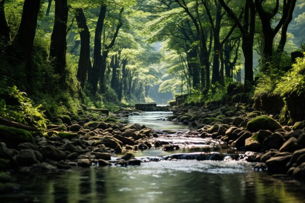
MULTIPOLYGON (((138 151, 137 157, 174 153, 229 153, 224 144, 188 134, 188 127, 163 120, 171 112, 147 112, 124 119, 169 134, 155 140, 178 145, 138 151), (158 120, 157 120, 158 119, 158 120), (173 133, 178 131, 178 133, 173 133), (214 152, 212 152, 214 153, 214 152)), ((305 203, 305 185, 286 176, 253 171, 253 164, 226 156, 224 161, 173 159, 141 166, 73 168, 18 176, 22 191, 0 196, 0 203, 305 203)))

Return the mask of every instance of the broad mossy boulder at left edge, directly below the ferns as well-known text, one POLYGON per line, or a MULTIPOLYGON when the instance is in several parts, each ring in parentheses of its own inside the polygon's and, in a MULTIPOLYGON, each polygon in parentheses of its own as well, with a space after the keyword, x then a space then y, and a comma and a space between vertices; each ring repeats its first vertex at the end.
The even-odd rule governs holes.
POLYGON ((33 136, 28 130, 0 125, 0 141, 8 145, 18 145, 19 143, 33 142, 33 136))

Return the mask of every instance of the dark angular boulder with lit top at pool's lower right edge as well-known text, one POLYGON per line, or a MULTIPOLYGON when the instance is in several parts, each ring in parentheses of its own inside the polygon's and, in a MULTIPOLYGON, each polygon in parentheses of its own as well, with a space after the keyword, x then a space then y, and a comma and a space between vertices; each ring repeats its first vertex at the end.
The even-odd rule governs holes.
POLYGON ((286 173, 289 169, 286 165, 290 159, 291 155, 270 158, 266 162, 268 171, 271 173, 286 173))

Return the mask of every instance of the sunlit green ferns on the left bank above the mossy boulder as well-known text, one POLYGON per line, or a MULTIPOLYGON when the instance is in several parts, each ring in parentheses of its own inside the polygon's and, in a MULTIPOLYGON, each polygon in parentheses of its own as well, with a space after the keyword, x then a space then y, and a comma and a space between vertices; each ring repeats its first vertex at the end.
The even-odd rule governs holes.
POLYGON ((48 120, 45 118, 41 105, 33 104, 25 92, 16 86, 0 89, 0 116, 40 130, 46 129, 48 120))

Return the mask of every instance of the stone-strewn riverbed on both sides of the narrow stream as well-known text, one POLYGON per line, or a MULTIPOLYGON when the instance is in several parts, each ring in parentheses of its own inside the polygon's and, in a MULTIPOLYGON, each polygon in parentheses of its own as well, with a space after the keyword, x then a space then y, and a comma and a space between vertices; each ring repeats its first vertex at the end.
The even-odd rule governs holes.
MULTIPOLYGON (((164 132, 121 124, 120 117, 137 114, 121 110, 111 116, 90 114, 61 116, 63 124, 48 126, 47 132, 29 132, 0 126, 0 192, 19 190, 15 173, 65 170, 71 167, 138 166, 161 160, 247 160, 256 170, 287 173, 304 180, 305 122, 282 126, 274 116, 247 112, 243 106, 177 107, 169 119, 197 127, 186 132, 164 132), (181 142, 173 143, 171 137, 181 142), (200 151, 183 153, 190 139, 202 142, 200 151), (183 141, 186 140, 186 141, 183 141), (205 147, 204 146, 208 146, 205 147), (221 148, 221 151, 211 152, 221 148), (177 151, 167 156, 135 157, 133 152, 149 148, 177 151), (126 152, 122 156, 122 152, 126 152), (180 153, 178 153, 180 152, 180 153)), ((58 120, 57 120, 58 121, 58 120)), ((198 144, 198 143, 197 143, 198 144)))

